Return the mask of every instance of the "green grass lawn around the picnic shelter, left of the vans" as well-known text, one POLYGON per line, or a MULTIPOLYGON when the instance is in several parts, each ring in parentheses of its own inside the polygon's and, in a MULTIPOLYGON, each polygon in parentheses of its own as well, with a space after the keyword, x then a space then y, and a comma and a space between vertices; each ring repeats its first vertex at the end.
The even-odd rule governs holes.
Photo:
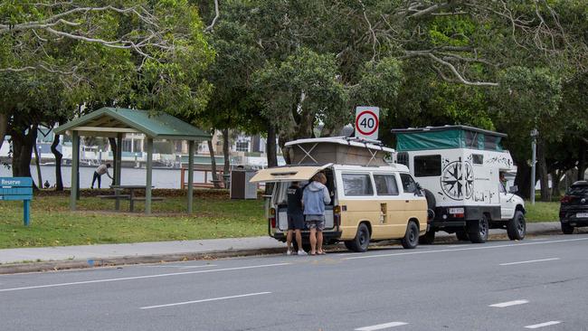
MULTIPOLYGON (((142 211, 144 203, 135 203, 142 211)), ((23 225, 22 202, 0 202, 0 249, 139 241, 179 241, 260 236, 267 233, 262 200, 194 197, 194 214, 185 214, 185 197, 152 204, 153 216, 113 213, 114 201, 81 197, 78 212, 69 197, 35 196, 31 225, 23 225)), ((121 203, 128 211, 128 202, 121 203)))

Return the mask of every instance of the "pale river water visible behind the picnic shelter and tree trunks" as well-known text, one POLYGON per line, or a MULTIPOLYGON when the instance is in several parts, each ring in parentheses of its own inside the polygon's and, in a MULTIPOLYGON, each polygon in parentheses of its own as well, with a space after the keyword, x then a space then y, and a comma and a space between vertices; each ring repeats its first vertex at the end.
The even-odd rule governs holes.
MULTIPOLYGON (((89 188, 92 182, 92 175, 96 167, 81 166, 80 167, 80 187, 89 188)), ((31 174, 33 181, 37 183, 37 169, 31 165, 31 174)), ((112 168, 109 169, 109 174, 114 176, 112 168)), ((50 184, 55 184, 55 165, 41 165, 41 175, 43 176, 43 183, 48 180, 50 184)), ((187 174, 186 180, 187 180, 187 174)), ((0 165, 0 176, 12 177, 12 169, 0 165)), ((211 174, 208 174, 210 181, 211 174)), ((63 186, 71 186, 71 166, 62 166, 63 186)), ((122 168, 120 174, 120 181, 123 185, 144 185, 147 182, 147 170, 141 168, 122 168)), ((203 183, 204 173, 194 172, 194 183, 203 183)), ((179 169, 153 169, 152 183, 156 188, 180 188, 180 170, 179 169)), ((107 175, 102 175, 102 187, 109 187, 111 180, 107 175)), ((97 184, 95 184, 96 187, 97 184)))

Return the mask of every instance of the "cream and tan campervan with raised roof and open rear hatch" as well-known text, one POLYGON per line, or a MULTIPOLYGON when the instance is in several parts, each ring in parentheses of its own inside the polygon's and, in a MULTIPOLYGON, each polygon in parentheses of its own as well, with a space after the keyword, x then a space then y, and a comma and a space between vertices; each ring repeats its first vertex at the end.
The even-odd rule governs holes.
MULTIPOLYGON (((405 165, 389 163, 394 149, 380 142, 348 137, 290 141, 289 165, 262 169, 251 183, 275 183, 267 205, 269 235, 286 241, 287 189, 307 184, 318 172, 327 176, 325 242, 343 241, 366 251, 371 241, 400 240, 412 249, 426 231, 427 202, 405 165)), ((303 232, 303 245, 308 232, 303 232)))

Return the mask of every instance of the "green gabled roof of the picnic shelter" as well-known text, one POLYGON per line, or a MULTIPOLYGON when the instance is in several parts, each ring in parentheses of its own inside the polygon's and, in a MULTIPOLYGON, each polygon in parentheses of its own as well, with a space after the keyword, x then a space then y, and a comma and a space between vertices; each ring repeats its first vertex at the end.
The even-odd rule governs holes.
POLYGON ((163 111, 102 108, 75 118, 59 128, 58 135, 77 130, 81 136, 116 137, 119 133, 142 133, 147 137, 172 140, 205 140, 211 136, 200 128, 163 111))

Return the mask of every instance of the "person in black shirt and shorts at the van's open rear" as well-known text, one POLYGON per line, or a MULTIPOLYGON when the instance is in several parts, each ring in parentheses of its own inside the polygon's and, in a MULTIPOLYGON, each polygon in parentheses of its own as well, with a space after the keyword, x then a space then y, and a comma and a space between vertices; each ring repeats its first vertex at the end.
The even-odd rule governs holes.
POLYGON ((286 244, 288 245, 287 255, 292 254, 292 232, 296 232, 296 242, 299 244, 299 255, 307 255, 302 249, 302 233, 304 230, 304 214, 302 213, 302 188, 298 182, 292 182, 288 187, 288 234, 286 244))

